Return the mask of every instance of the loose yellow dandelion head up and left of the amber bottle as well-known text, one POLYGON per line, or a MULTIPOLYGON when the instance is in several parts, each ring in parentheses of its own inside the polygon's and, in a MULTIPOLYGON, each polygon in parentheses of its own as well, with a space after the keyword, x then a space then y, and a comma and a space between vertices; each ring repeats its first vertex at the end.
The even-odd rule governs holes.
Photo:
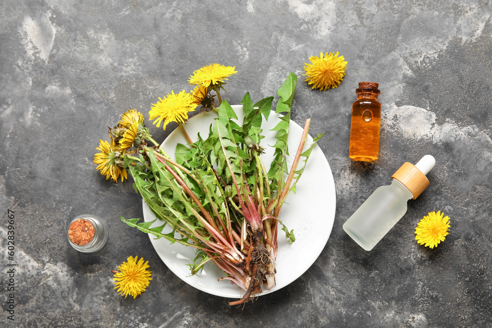
POLYGON ((309 85, 312 85, 312 89, 319 88, 326 91, 326 89, 337 88, 345 75, 345 68, 347 62, 344 61, 343 56, 338 57, 338 52, 326 53, 323 57, 323 53, 318 56, 309 57, 312 64, 304 63, 304 70, 307 76, 305 81, 308 81, 309 85))

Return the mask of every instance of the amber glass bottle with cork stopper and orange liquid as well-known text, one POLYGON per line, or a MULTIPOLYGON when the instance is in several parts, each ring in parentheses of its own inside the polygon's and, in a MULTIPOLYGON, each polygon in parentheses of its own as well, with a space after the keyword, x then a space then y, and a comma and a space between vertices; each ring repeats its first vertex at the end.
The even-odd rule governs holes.
POLYGON ((379 84, 360 82, 356 89, 357 100, 352 104, 350 148, 348 157, 354 161, 372 162, 379 154, 379 129, 381 104, 377 96, 379 84))

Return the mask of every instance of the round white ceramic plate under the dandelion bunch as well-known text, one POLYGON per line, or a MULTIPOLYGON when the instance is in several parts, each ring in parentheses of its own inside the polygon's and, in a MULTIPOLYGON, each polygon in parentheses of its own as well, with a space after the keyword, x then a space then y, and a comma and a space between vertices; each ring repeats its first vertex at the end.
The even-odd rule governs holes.
MULTIPOLYGON (((238 115, 238 124, 241 124, 244 118, 242 105, 232 107, 238 115)), ((197 140, 198 132, 205 139, 208 136, 210 124, 217 117, 218 115, 214 112, 196 115, 186 123, 186 132, 193 141, 197 140)), ((261 146, 266 149, 262 158, 267 169, 270 168, 274 153, 273 148, 269 145, 275 144, 276 135, 276 132, 270 131, 270 129, 275 127, 278 121, 278 115, 272 112, 269 120, 263 122, 262 126, 265 138, 261 141, 261 146)), ((302 132, 303 128, 291 121, 288 142, 291 157, 287 161, 289 169, 299 146, 302 132)), ((177 143, 186 144, 179 128, 164 140, 162 147, 173 157, 177 143)), ((305 149, 311 143, 312 138, 308 136, 305 149)), ((301 161, 301 163, 303 162, 301 161)), ((300 165, 298 169, 301 167, 300 165)), ((277 285, 270 291, 264 291, 259 295, 272 293, 299 278, 318 258, 330 237, 335 218, 335 183, 330 165, 318 146, 312 150, 306 170, 297 184, 296 192, 296 194, 289 193, 286 203, 280 211, 282 222, 289 230, 294 229, 296 241, 289 244, 288 240, 284 238, 283 231, 278 232, 277 285)), ((145 202, 143 203, 143 213, 146 222, 155 219, 154 213, 145 202)), ((154 225, 160 224, 156 221, 154 225)), ((170 231, 169 229, 167 232, 170 231)), ((166 230, 163 232, 166 233, 166 230)), ((203 271, 199 273, 200 276, 190 275, 189 267, 186 264, 192 263, 191 259, 195 258, 194 248, 178 243, 170 244, 167 239, 155 239, 155 236, 151 234, 149 234, 149 238, 166 266, 189 285, 206 293, 227 298, 241 298, 244 294, 241 288, 231 284, 229 280, 217 281, 217 278, 223 277, 224 273, 215 264, 205 265, 203 271)))

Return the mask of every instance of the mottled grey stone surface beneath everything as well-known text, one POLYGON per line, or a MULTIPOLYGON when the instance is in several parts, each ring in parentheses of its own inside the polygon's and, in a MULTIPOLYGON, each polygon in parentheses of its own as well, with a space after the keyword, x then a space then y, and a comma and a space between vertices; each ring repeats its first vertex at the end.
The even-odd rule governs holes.
MULTIPOLYGON (((0 0, 0 281, 2 327, 492 327, 492 5, 480 0, 0 0), (229 3, 228 3, 229 2, 229 3), (337 89, 312 90, 304 62, 339 51, 337 89), (92 163, 130 108, 190 89, 193 70, 236 66, 225 98, 275 94, 300 77, 292 118, 335 178, 337 211, 325 249, 289 286, 245 308, 205 294, 161 262, 149 238, 124 225, 142 215, 131 182, 92 163), (350 106, 361 81, 380 83, 380 157, 348 158, 350 106), (437 160, 430 187, 366 252, 345 220, 405 161, 437 160), (7 209, 15 211, 15 322, 7 320, 7 209), (416 244, 432 210, 451 218, 435 249, 416 244), (65 237, 81 213, 109 220, 94 254, 65 237), (153 280, 136 299, 113 291, 110 270, 130 255, 153 280)), ((146 114, 147 116, 147 114, 146 114)), ((166 131, 152 127, 156 140, 166 131)), ((302 219, 302 218, 301 218, 302 219)))

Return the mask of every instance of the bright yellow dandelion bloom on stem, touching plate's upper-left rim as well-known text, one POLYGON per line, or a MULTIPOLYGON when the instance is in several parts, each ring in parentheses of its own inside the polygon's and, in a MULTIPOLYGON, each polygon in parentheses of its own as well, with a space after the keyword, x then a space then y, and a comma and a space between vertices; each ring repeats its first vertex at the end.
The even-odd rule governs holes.
POLYGON ((159 97, 159 101, 152 105, 153 107, 149 112, 150 119, 155 119, 153 124, 156 124, 157 127, 164 120, 162 126, 164 130, 169 122, 184 123, 188 119, 188 112, 197 106, 193 103, 191 95, 184 90, 178 94, 171 91, 171 94, 165 96, 164 99, 159 97))

